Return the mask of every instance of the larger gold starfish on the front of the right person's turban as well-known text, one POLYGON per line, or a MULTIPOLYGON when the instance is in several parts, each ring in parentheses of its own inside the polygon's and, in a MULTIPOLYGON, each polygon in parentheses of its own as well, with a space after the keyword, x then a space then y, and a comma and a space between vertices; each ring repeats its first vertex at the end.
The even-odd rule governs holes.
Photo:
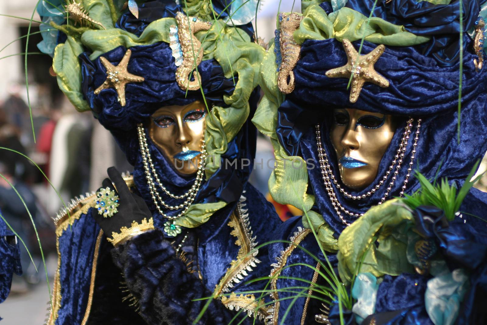
POLYGON ((386 47, 383 44, 377 46, 369 54, 359 56, 354 46, 348 39, 343 40, 343 48, 347 54, 348 62, 344 66, 331 69, 326 72, 329 78, 349 78, 352 76, 352 91, 350 102, 355 103, 360 95, 365 82, 372 82, 383 88, 389 87, 389 81, 378 74, 374 64, 384 53, 386 47))

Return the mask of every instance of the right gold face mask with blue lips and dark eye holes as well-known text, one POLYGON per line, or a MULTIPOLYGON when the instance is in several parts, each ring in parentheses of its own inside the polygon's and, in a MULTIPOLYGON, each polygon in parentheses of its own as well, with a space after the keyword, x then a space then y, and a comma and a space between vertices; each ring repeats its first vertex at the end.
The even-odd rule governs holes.
POLYGON ((330 138, 338 157, 341 181, 353 190, 372 184, 382 156, 396 131, 392 115, 335 109, 330 138))

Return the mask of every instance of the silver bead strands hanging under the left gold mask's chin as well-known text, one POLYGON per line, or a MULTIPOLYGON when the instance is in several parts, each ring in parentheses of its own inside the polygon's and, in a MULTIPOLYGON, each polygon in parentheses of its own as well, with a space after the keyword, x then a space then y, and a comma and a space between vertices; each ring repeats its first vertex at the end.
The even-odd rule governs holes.
POLYGON ((183 216, 187 212, 187 210, 189 209, 189 207, 193 203, 194 199, 196 198, 196 194, 200 190, 201 182, 203 181, 203 177, 204 177, 204 173, 205 173, 205 160, 206 160, 206 155, 207 155, 205 138, 203 138, 203 140, 202 140, 200 162, 198 164, 198 172, 196 173, 196 179, 194 181, 194 184, 191 186, 189 191, 187 191, 186 193, 184 193, 182 195, 174 195, 174 194, 170 193, 162 185, 162 183, 159 179, 157 171, 155 170, 154 164, 152 162, 152 157, 150 155, 150 149, 149 149, 149 146, 147 144, 146 132, 145 132, 145 129, 144 129, 144 126, 142 123, 139 123, 137 125, 137 130, 138 130, 138 134, 139 134, 139 144, 140 144, 140 151, 142 153, 142 161, 144 164, 144 170, 145 170, 145 174, 146 174, 147 183, 149 185, 150 195, 152 196, 152 200, 154 201, 154 204, 155 204, 157 210, 159 211, 159 213, 163 217, 168 218, 169 220, 177 219, 177 218, 183 216), (187 197, 187 199, 183 203, 176 205, 176 206, 171 206, 171 205, 167 204, 166 202, 164 202, 164 200, 159 195, 159 192, 157 191, 156 184, 154 183, 154 178, 156 179, 156 182, 159 185, 159 187, 166 194, 168 194, 170 197, 176 198, 176 199, 182 199, 182 198, 187 197), (161 209, 161 206, 159 204, 161 204, 162 206, 164 206, 165 208, 167 208, 169 210, 179 210, 179 209, 183 209, 183 208, 184 209, 181 212, 179 212, 177 215, 167 215, 161 209))

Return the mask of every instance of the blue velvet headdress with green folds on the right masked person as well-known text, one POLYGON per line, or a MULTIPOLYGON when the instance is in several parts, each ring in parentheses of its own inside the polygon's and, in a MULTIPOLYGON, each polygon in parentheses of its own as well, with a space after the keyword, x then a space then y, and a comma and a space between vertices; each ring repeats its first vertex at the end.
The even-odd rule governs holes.
MULTIPOLYGON (((370 82, 366 82, 355 103, 350 102, 350 89, 347 89, 349 79, 346 77, 327 77, 325 73, 331 69, 341 67, 347 63, 341 39, 343 30, 338 30, 347 24, 354 25, 351 18, 347 22, 339 20, 343 12, 351 13, 354 9, 364 16, 369 16, 374 1, 350 0, 343 9, 335 9, 328 2, 323 2, 319 7, 311 5, 304 11, 304 18, 300 28, 294 33, 294 38, 300 44, 300 58, 293 69, 294 90, 283 98, 277 111, 275 121, 275 134, 262 122, 263 113, 268 108, 267 102, 260 106, 254 122, 259 129, 266 134, 275 136, 282 150, 284 159, 300 156, 305 161, 311 158, 316 168, 307 171, 308 181, 311 187, 304 193, 304 202, 308 195, 314 195, 314 209, 322 214, 324 221, 335 231, 335 235, 344 229, 345 225, 337 217, 333 205, 328 198, 325 185, 322 180, 321 170, 318 165, 318 148, 316 145, 315 125, 321 123, 323 147, 331 158, 329 163, 339 182, 337 157, 329 138, 332 113, 334 108, 356 108, 360 110, 378 112, 388 115, 403 116, 403 122, 399 125, 390 147, 384 154, 379 172, 371 186, 361 191, 347 189, 352 195, 368 193, 382 179, 385 171, 394 159, 399 147, 407 117, 415 120, 422 119, 416 155, 413 168, 423 173, 428 178, 447 176, 451 181, 462 182, 468 175, 474 163, 481 159, 487 150, 487 141, 484 134, 487 132, 487 70, 484 67, 476 71, 474 59, 478 55, 473 49, 473 41, 465 33, 463 52, 463 83, 462 83, 462 110, 460 123, 460 142, 457 142, 457 104, 459 88, 458 60, 458 12, 453 10, 455 3, 449 5, 435 5, 427 1, 393 0, 390 3, 380 2, 374 11, 374 17, 380 17, 387 22, 402 24, 398 26, 399 32, 409 31, 413 34, 428 36, 427 41, 408 46, 392 46, 391 43, 400 43, 401 37, 387 35, 387 29, 380 30, 377 20, 370 30, 361 26, 355 35, 369 38, 363 43, 362 55, 371 52, 377 47, 377 40, 383 39, 385 51, 375 63, 375 71, 384 76, 390 85, 381 88, 370 82), (340 11, 338 13, 337 11, 340 11), (448 15, 446 14, 448 13, 448 15), (335 19, 335 21, 333 20, 335 19), (331 23, 328 24, 328 21, 331 23), (343 23, 343 25, 340 25, 343 23), (335 28, 330 32, 329 28, 335 28), (377 28, 374 30, 374 28, 377 28), (371 31, 372 30, 372 31, 371 31), (305 32, 306 31, 306 32, 305 32), (363 33, 360 33, 363 31, 363 33), (375 32, 375 34, 374 34, 375 32), (330 35, 330 33, 334 33, 330 35), (319 35, 319 37, 317 37, 319 35), (378 35, 378 36, 377 36, 378 35), (326 37, 333 36, 333 37, 326 37), (339 38, 339 39, 337 39, 339 38), (368 41, 371 39, 375 44, 368 41), (455 47, 456 46, 456 47, 455 47), (262 111, 262 114, 261 114, 262 111), (289 156, 285 158, 285 156, 289 156)), ((463 1, 465 6, 464 30, 474 26, 479 16, 480 4, 485 1, 463 1)), ((361 16, 356 14, 356 16, 361 16)), ((367 23, 366 20, 363 24, 367 23)), ((392 30, 390 25, 387 25, 392 30)), ((350 33, 349 33, 350 35, 350 33)), ((407 37, 410 37, 409 34, 407 37)), ((404 37, 406 38, 406 37, 404 37)), ((351 39, 353 46, 358 51, 360 39, 351 39)), ((406 40, 405 40, 406 41, 406 40)), ((380 42, 378 42, 380 43, 380 42)), ((278 51, 276 51, 278 52, 278 51)), ((284 60, 284 58, 282 59, 284 60)), ((264 65, 266 64, 264 59, 264 65)), ((268 62, 271 62, 269 59, 268 62)), ((266 67, 269 69, 269 67, 266 67)), ((263 69, 263 67, 262 67, 263 69)), ((272 89, 272 79, 265 76, 261 69, 262 83, 266 84, 264 90, 272 89)), ((272 98, 271 91, 266 97, 272 98)), ((278 96, 279 97, 279 96, 278 96)), ((277 101, 275 99, 269 100, 277 101)), ((269 115, 268 111, 266 112, 269 115)), ((416 123, 414 123, 413 131, 416 123)), ((276 146, 275 146, 276 149, 276 146)), ((276 151, 276 152, 279 152, 276 151)), ((412 152, 412 141, 405 152, 406 166, 412 152)), ((292 173, 292 172, 291 172, 292 173)), ((408 173, 407 167, 401 168, 389 197, 399 195, 402 180, 408 173)), ((391 181, 392 173, 387 179, 391 181)), ((279 184, 285 182, 282 175, 273 175, 271 182, 279 184), (275 180, 274 180, 275 179, 275 180)), ((290 176, 293 178, 294 176, 290 176)), ((294 177, 296 178, 296 177, 294 177)), ((304 178, 302 178, 304 180, 304 178)), ((387 184, 386 183, 386 184, 387 184)), ((332 184, 335 192, 336 186, 332 184)), ((346 188, 343 184, 342 187, 346 188)), ((277 187, 276 187, 277 188, 277 187)), ((354 213, 363 213, 371 206, 380 202, 387 186, 382 186, 366 199, 353 200, 340 196, 342 206, 354 213)), ((414 177, 409 178, 407 193, 419 188, 419 183, 414 177)), ((279 196, 279 194, 277 195, 279 196)), ((282 199, 281 199, 282 201, 282 199)), ((290 203, 290 202, 281 202, 290 203)), ((472 212, 472 213, 475 213, 472 212)), ((347 222, 353 222, 354 218, 343 214, 347 222)), ((319 226, 319 224, 318 224, 319 226)))

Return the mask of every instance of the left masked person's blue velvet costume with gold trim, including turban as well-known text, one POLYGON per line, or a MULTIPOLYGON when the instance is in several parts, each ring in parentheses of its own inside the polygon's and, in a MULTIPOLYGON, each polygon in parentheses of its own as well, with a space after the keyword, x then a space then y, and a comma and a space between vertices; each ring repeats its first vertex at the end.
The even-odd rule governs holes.
MULTIPOLYGON (((219 1, 213 2, 215 10, 221 12, 224 6, 220 8, 219 1)), ((150 22, 174 17, 183 9, 173 1, 150 1, 139 7, 138 19, 126 11, 115 26, 139 36, 150 22)), ((249 26, 244 26, 244 30, 251 33, 249 26)), ((81 89, 95 117, 111 131, 134 166, 133 175, 126 182, 132 192, 146 201, 155 229, 113 248, 95 222, 93 193, 76 200, 69 215, 63 211, 56 218, 58 272, 48 324, 192 324, 207 301, 194 299, 210 297, 215 288, 220 290, 217 294, 223 291, 237 295, 211 300, 198 324, 223 325, 235 315, 237 320, 247 318, 247 313, 253 316, 254 307, 247 306, 254 301, 253 296, 238 292, 255 290, 256 284, 246 282, 266 275, 267 249, 260 248, 255 255, 251 249, 265 242, 269 229, 281 223, 273 206, 247 183, 253 165, 241 163, 242 159, 253 160, 257 130, 249 120, 243 123, 221 155, 222 161, 237 159, 239 163, 222 164, 202 183, 194 200, 194 203, 223 201, 226 206, 199 227, 169 237, 162 231, 166 220, 151 200, 136 126, 160 107, 201 100, 201 91, 186 92, 178 86, 177 67, 168 43, 159 41, 130 49, 129 71, 144 76, 145 81, 126 86, 124 107, 117 102, 113 88, 94 95, 94 90, 106 79, 106 69, 99 57, 90 59, 88 52, 79 55, 81 89)), ((118 46, 103 57, 117 64, 126 50, 118 46)), ((240 79, 226 78, 216 59, 203 60, 198 71, 209 107, 225 107, 224 96, 232 95, 240 79)), ((248 99, 249 118, 255 112, 257 95, 254 91, 248 99)), ((187 191, 195 177, 178 174, 149 138, 148 142, 161 182, 173 193, 187 191)), ((176 201, 169 198, 166 202, 172 205, 176 201)), ((256 313, 256 324, 263 316, 260 311, 256 313)), ((252 322, 246 319, 242 324, 252 322)))

